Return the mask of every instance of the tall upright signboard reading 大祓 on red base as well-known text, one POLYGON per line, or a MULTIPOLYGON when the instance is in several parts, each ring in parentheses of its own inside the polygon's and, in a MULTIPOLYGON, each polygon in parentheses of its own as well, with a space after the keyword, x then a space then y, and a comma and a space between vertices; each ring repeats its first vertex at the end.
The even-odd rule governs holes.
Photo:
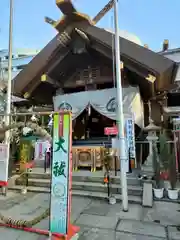
POLYGON ((79 231, 79 227, 70 223, 72 199, 72 118, 70 112, 60 112, 54 115, 52 146, 49 231, 52 235, 66 236, 70 239, 79 231))

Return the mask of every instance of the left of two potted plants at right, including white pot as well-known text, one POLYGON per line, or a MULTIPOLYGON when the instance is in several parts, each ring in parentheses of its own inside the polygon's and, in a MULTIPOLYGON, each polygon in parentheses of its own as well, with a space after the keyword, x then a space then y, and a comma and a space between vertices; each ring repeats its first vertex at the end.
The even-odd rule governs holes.
POLYGON ((164 195, 164 188, 162 187, 162 181, 161 181, 161 167, 160 167, 160 160, 157 153, 157 147, 156 143, 153 143, 153 170, 154 170, 154 180, 155 180, 155 186, 153 188, 154 196, 158 199, 163 198, 164 195))

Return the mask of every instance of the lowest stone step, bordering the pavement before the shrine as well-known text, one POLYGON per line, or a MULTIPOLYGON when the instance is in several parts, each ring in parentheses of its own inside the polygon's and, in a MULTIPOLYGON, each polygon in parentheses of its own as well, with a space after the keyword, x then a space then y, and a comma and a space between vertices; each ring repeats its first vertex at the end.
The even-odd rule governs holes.
MULTIPOLYGON (((9 190, 14 191, 21 191, 23 187, 22 186, 12 186, 9 188, 9 190)), ((28 192, 37 192, 37 193, 50 193, 50 188, 47 187, 33 187, 28 186, 27 187, 28 192)), ((82 197, 90 197, 90 198, 96 198, 96 199, 107 199, 107 193, 99 193, 99 192, 90 192, 90 191, 82 191, 82 190, 72 190, 72 196, 82 196, 82 197)), ((114 194, 113 195, 116 200, 122 201, 122 195, 121 194, 114 194)), ((136 204, 142 204, 142 198, 140 196, 128 196, 129 203, 136 203, 136 204)))

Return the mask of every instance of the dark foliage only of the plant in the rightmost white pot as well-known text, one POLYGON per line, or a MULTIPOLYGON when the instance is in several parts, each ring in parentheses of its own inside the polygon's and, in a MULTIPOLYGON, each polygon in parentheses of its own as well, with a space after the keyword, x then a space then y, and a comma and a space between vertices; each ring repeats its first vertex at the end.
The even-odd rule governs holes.
POLYGON ((171 185, 171 189, 174 190, 177 183, 176 157, 174 151, 169 157, 169 182, 171 185))

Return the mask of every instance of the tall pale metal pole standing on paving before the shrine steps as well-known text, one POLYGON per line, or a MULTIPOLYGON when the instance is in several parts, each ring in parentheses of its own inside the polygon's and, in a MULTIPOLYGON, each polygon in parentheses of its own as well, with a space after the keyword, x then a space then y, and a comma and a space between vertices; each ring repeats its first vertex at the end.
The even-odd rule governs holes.
POLYGON ((128 154, 126 149, 124 133, 124 113, 123 113, 123 96, 121 85, 121 59, 120 59, 120 41, 119 41, 119 24, 118 24, 118 0, 114 0, 114 20, 115 20, 115 55, 116 55, 116 86, 117 86, 117 124, 119 133, 119 159, 121 165, 121 187, 122 187, 122 205, 123 211, 128 211, 128 193, 126 163, 128 154))

